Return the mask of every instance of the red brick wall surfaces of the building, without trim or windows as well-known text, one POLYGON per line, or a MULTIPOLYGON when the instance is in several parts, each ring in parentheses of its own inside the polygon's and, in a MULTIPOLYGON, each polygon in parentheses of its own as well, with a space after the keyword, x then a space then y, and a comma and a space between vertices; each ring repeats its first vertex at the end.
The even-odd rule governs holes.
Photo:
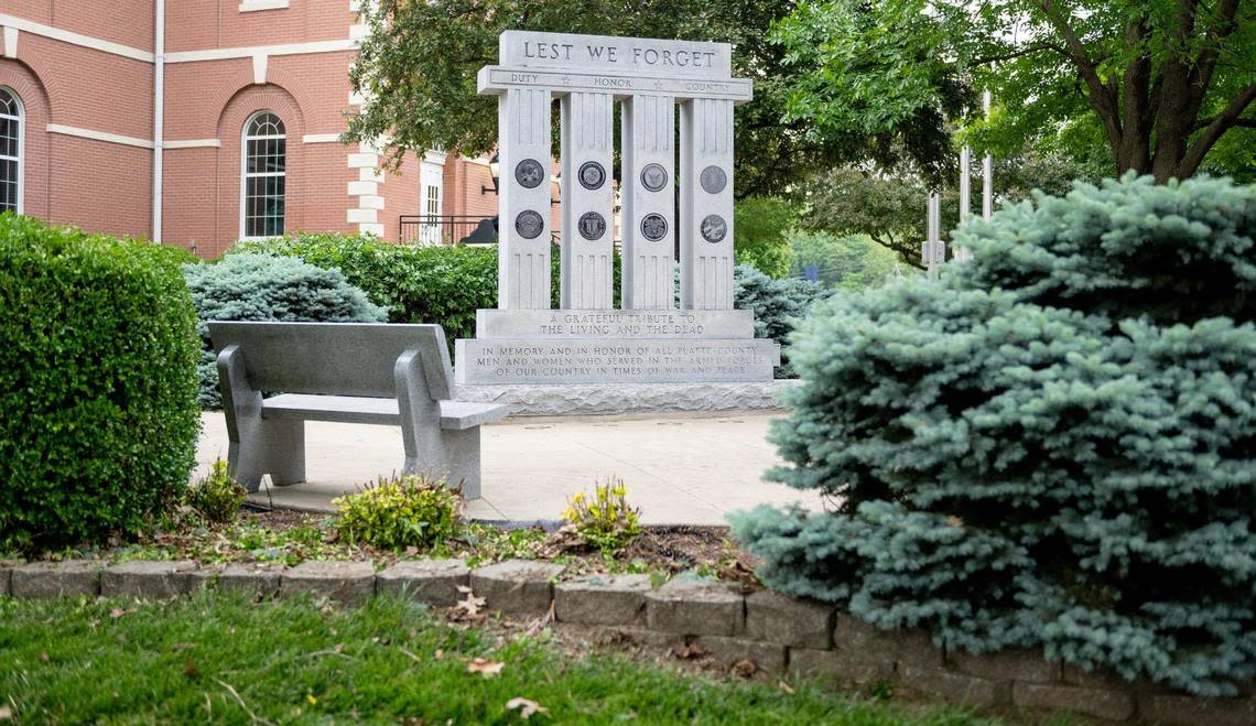
MULTIPOLYGON (((290 8, 240 13, 241 0, 166 3, 166 53, 274 49, 299 43, 343 43, 355 15, 347 0, 291 0, 290 8)), ((8 0, 0 13, 152 51, 153 0, 8 0)), ((0 84, 26 108, 24 209, 58 222, 112 234, 148 235, 152 220, 152 157, 148 148, 48 133, 49 123, 151 141, 153 65, 53 40, 19 36, 16 60, 0 59, 0 84)), ((348 69, 355 51, 269 55, 265 84, 254 84, 251 58, 171 59, 166 65, 166 142, 219 146, 163 152, 162 239, 222 254, 240 234, 240 144, 245 121, 257 111, 283 118, 288 133, 288 231, 354 232, 347 214, 358 196, 348 185, 359 170, 348 156, 357 144, 304 143, 338 134, 349 109, 348 69)), ((378 186, 378 222, 397 239, 398 216, 421 214, 420 158, 407 154, 378 186)), ((443 212, 492 216, 497 197, 489 168, 450 156, 443 212)), ((556 217, 555 217, 556 226, 556 217)))

